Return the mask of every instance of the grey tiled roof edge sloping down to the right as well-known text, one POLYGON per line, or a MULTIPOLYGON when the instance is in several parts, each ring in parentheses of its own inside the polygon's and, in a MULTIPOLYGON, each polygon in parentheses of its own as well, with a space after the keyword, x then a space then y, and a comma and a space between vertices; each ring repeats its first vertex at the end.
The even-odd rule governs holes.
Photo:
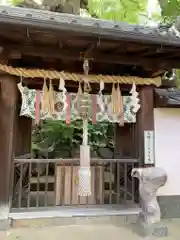
POLYGON ((45 10, 0 6, 0 24, 35 27, 51 31, 73 31, 115 40, 143 41, 180 46, 180 38, 164 27, 84 18, 45 10))

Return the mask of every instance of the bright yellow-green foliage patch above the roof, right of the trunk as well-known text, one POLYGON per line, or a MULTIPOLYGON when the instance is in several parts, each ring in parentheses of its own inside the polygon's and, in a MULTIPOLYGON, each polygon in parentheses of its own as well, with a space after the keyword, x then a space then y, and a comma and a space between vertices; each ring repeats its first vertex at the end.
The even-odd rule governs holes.
POLYGON ((147 0, 88 0, 88 8, 91 15, 101 19, 138 23, 146 3, 147 0))

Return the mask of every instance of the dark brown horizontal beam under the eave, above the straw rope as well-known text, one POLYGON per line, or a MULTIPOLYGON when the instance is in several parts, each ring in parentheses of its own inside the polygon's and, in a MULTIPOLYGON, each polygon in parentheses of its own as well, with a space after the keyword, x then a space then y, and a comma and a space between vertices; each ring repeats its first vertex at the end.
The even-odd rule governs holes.
MULTIPOLYGON (((16 55, 20 56, 34 56, 42 58, 51 58, 51 59, 65 59, 65 60, 80 60, 80 53, 82 50, 58 50, 57 48, 47 48, 47 47, 35 47, 35 46, 20 46, 20 45, 7 45, 2 46, 4 49, 9 51, 16 51, 16 55), (18 54, 19 52, 19 54, 18 54)), ((162 59, 159 58, 148 58, 142 57, 138 54, 121 54, 121 55, 110 55, 94 52, 91 56, 93 62, 99 63, 108 63, 108 64, 122 64, 122 65, 137 65, 148 68, 158 68, 158 69, 171 69, 171 68, 180 68, 180 58, 179 59, 162 59)), ((11 59, 11 54, 9 54, 9 59, 11 59)))

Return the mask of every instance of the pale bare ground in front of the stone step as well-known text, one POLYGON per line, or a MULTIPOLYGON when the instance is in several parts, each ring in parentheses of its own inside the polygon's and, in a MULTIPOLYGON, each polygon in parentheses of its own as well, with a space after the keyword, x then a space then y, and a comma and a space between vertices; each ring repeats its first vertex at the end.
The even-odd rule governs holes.
MULTIPOLYGON (((168 226, 169 236, 158 239, 180 240, 180 219, 163 223, 168 226)), ((62 237, 65 240, 157 239, 140 237, 133 231, 131 225, 118 226, 117 224, 14 228, 7 232, 0 232, 0 240, 59 240, 62 237)))

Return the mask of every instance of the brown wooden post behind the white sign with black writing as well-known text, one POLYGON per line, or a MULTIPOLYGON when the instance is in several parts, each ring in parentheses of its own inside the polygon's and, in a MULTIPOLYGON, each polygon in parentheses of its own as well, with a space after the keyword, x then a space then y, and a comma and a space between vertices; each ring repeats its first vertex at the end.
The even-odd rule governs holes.
MULTIPOLYGON (((152 164, 145 164, 145 131, 150 131, 154 135, 154 89, 153 86, 143 86, 139 91, 141 108, 137 114, 137 133, 139 135, 139 158, 140 166, 148 167, 152 164)), ((154 146, 153 146, 154 148, 154 146)), ((153 149, 154 155, 154 149, 153 149)))

